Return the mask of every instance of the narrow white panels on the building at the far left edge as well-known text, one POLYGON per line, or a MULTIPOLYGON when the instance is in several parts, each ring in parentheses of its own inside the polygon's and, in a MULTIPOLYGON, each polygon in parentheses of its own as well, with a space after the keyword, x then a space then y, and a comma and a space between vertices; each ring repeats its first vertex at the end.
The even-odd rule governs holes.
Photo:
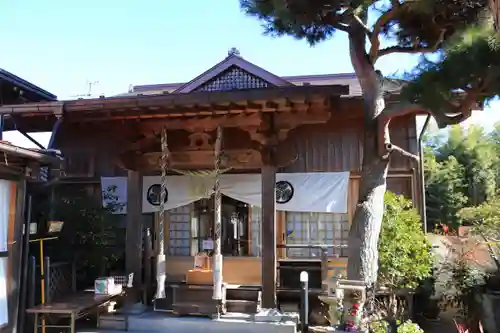
MULTIPOLYGON (((0 180, 0 252, 8 251, 11 182, 0 180)), ((8 258, 0 259, 0 326, 9 321, 7 301, 8 258)))

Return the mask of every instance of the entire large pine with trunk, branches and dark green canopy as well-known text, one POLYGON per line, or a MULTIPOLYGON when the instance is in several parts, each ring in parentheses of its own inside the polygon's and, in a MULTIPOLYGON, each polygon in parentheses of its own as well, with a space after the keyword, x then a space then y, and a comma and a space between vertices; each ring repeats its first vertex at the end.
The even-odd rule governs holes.
MULTIPOLYGON (((364 156, 359 202, 349 235, 348 277, 373 284, 390 156, 415 158, 391 144, 391 119, 430 113, 439 127, 467 119, 471 110, 500 89, 500 48, 492 25, 482 18, 486 0, 240 0, 242 9, 264 23, 265 32, 310 44, 346 33, 364 106, 364 156), (372 17, 373 16, 373 17, 372 17), (373 22, 373 24, 368 24, 373 22), (478 22, 481 22, 478 23, 478 22), (381 46, 388 38, 392 45, 381 46), (366 41, 369 41, 367 47, 366 41), (389 103, 379 58, 396 53, 438 52, 408 78, 398 102, 389 103), (435 60, 435 59, 434 59, 435 60)), ((332 55, 333 58, 333 55, 332 55)))

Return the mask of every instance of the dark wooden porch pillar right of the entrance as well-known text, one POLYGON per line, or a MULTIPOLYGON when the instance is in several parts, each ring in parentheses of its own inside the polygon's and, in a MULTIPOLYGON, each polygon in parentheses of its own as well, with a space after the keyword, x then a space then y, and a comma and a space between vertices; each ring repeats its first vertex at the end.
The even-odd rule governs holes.
POLYGON ((276 308, 276 167, 273 155, 273 148, 263 149, 264 164, 261 169, 263 308, 276 308))

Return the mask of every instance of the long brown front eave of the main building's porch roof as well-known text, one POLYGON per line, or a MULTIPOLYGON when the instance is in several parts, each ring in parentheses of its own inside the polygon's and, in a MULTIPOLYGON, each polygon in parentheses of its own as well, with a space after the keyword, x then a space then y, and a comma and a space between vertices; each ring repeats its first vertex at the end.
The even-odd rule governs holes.
MULTIPOLYGON (((21 116, 43 116, 66 112, 90 114, 99 119, 126 115, 151 118, 168 115, 213 114, 234 110, 279 109, 282 101, 307 102, 312 99, 340 97, 349 93, 348 86, 286 86, 229 91, 194 91, 191 93, 159 94, 150 96, 118 96, 73 101, 29 103, 0 106, 0 113, 21 116), (273 104, 274 106, 269 106, 273 104), (104 111, 104 112, 103 112, 104 111)), ((285 106, 284 106, 285 107, 285 106)))

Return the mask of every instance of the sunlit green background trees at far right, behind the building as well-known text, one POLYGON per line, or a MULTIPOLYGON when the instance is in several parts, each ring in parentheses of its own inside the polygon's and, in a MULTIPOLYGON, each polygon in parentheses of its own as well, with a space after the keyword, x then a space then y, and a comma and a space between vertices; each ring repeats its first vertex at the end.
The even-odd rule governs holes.
POLYGON ((464 207, 498 200, 499 127, 486 133, 477 125, 454 126, 444 139, 427 137, 424 162, 430 228, 441 223, 457 228, 464 222, 464 207))

